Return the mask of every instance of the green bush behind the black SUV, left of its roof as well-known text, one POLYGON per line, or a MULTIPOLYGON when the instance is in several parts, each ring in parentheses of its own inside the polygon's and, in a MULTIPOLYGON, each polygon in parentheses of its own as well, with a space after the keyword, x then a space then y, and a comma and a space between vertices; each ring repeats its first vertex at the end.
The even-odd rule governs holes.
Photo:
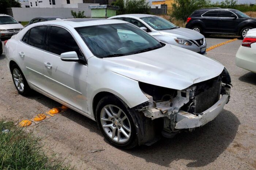
POLYGON ((210 0, 174 0, 171 16, 185 21, 193 11, 208 7, 210 4, 210 0))

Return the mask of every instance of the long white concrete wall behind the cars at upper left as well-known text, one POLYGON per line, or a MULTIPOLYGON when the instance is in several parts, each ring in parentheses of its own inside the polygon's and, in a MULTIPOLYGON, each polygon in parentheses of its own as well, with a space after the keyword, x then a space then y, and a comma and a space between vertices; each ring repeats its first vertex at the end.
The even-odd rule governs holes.
POLYGON ((84 11, 84 15, 91 17, 91 10, 89 5, 99 4, 78 4, 78 8, 11 8, 12 16, 18 21, 30 21, 39 16, 60 16, 64 18, 73 18, 71 10, 84 11))

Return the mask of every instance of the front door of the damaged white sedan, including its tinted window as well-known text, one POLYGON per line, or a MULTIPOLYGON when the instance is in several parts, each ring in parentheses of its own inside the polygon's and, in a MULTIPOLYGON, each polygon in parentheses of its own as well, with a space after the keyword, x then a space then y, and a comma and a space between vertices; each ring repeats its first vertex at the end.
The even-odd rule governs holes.
POLYGON ((75 51, 84 57, 68 30, 50 26, 44 55, 44 75, 48 92, 62 101, 87 111, 86 80, 87 65, 74 61, 62 61, 60 54, 75 51))

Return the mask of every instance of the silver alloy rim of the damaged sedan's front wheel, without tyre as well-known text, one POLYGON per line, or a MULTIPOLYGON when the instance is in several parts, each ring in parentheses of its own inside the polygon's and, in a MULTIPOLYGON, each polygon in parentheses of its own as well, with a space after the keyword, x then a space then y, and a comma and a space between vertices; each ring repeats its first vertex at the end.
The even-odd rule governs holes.
POLYGON ((131 137, 131 123, 122 109, 115 105, 106 105, 100 114, 104 132, 117 143, 125 143, 131 137))

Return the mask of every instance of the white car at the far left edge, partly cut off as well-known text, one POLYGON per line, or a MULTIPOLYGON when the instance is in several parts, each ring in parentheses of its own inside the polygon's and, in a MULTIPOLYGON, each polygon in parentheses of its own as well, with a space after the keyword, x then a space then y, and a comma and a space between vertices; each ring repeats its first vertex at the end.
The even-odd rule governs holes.
POLYGON ((16 21, 12 16, 0 14, 0 38, 10 38, 12 35, 18 34, 24 27, 20 22, 16 21))

